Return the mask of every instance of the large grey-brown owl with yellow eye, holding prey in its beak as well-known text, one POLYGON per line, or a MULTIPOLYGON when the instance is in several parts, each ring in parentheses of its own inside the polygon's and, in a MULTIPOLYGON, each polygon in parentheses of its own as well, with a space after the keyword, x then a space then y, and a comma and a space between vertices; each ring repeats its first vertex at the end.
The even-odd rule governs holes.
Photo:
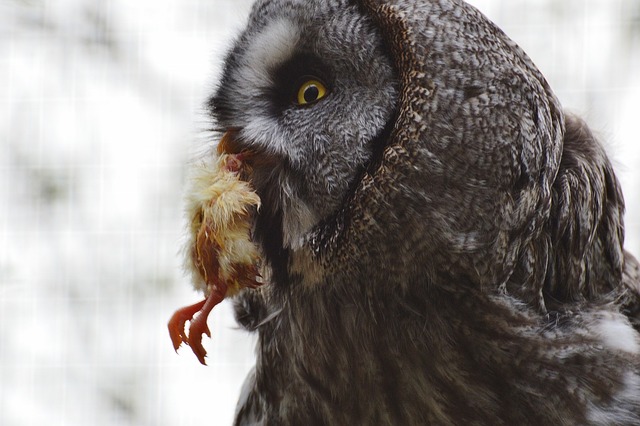
POLYGON ((479 11, 258 0, 209 106, 261 200, 236 424, 640 424, 619 184, 479 11))

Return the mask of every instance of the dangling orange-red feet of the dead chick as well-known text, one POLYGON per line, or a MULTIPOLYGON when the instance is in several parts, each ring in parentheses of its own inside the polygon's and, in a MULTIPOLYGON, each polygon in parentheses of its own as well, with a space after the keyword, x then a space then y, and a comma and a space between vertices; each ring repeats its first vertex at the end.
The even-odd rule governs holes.
POLYGON ((202 335, 206 334, 211 337, 211 331, 207 326, 207 318, 213 307, 224 300, 226 292, 226 286, 222 289, 214 285, 204 300, 178 309, 173 314, 169 320, 168 327, 169 336, 176 351, 182 343, 186 343, 191 347, 198 361, 203 365, 207 365, 204 360, 205 356, 207 356, 207 351, 202 346, 202 335), (187 321, 190 321, 188 335, 185 326, 187 321))

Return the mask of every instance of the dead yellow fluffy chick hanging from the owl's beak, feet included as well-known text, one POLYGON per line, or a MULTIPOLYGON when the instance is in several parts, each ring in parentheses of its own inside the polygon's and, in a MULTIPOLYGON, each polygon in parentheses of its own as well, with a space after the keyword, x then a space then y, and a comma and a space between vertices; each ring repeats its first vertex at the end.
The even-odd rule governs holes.
POLYGON ((185 263, 194 286, 204 291, 205 298, 178 309, 168 324, 174 349, 186 343, 202 364, 206 364, 202 335, 211 337, 207 317, 213 307, 242 288, 260 285, 260 255, 251 241, 252 217, 260 198, 240 178, 246 171, 244 159, 250 154, 225 152, 231 138, 230 132, 222 137, 213 165, 195 170, 187 203, 190 227, 185 263))

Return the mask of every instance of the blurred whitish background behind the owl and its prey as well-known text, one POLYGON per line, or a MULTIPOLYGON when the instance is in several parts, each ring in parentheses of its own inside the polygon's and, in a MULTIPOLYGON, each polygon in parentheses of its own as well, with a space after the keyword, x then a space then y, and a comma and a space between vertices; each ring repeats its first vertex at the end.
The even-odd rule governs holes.
MULTIPOLYGON (((0 1, 0 424, 230 424, 251 336, 166 331, 182 186, 248 0, 0 1)), ((606 141, 640 254, 640 0, 475 0, 606 141)))

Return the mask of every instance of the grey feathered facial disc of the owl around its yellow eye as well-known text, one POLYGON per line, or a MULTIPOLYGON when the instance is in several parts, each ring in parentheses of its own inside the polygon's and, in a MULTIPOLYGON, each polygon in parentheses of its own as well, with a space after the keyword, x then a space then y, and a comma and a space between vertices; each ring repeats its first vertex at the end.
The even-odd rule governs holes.
MULTIPOLYGON (((285 249, 344 203, 388 137, 397 75, 372 20, 348 1, 260 1, 210 101, 285 249)), ((273 237, 273 235, 271 235, 273 237)))

